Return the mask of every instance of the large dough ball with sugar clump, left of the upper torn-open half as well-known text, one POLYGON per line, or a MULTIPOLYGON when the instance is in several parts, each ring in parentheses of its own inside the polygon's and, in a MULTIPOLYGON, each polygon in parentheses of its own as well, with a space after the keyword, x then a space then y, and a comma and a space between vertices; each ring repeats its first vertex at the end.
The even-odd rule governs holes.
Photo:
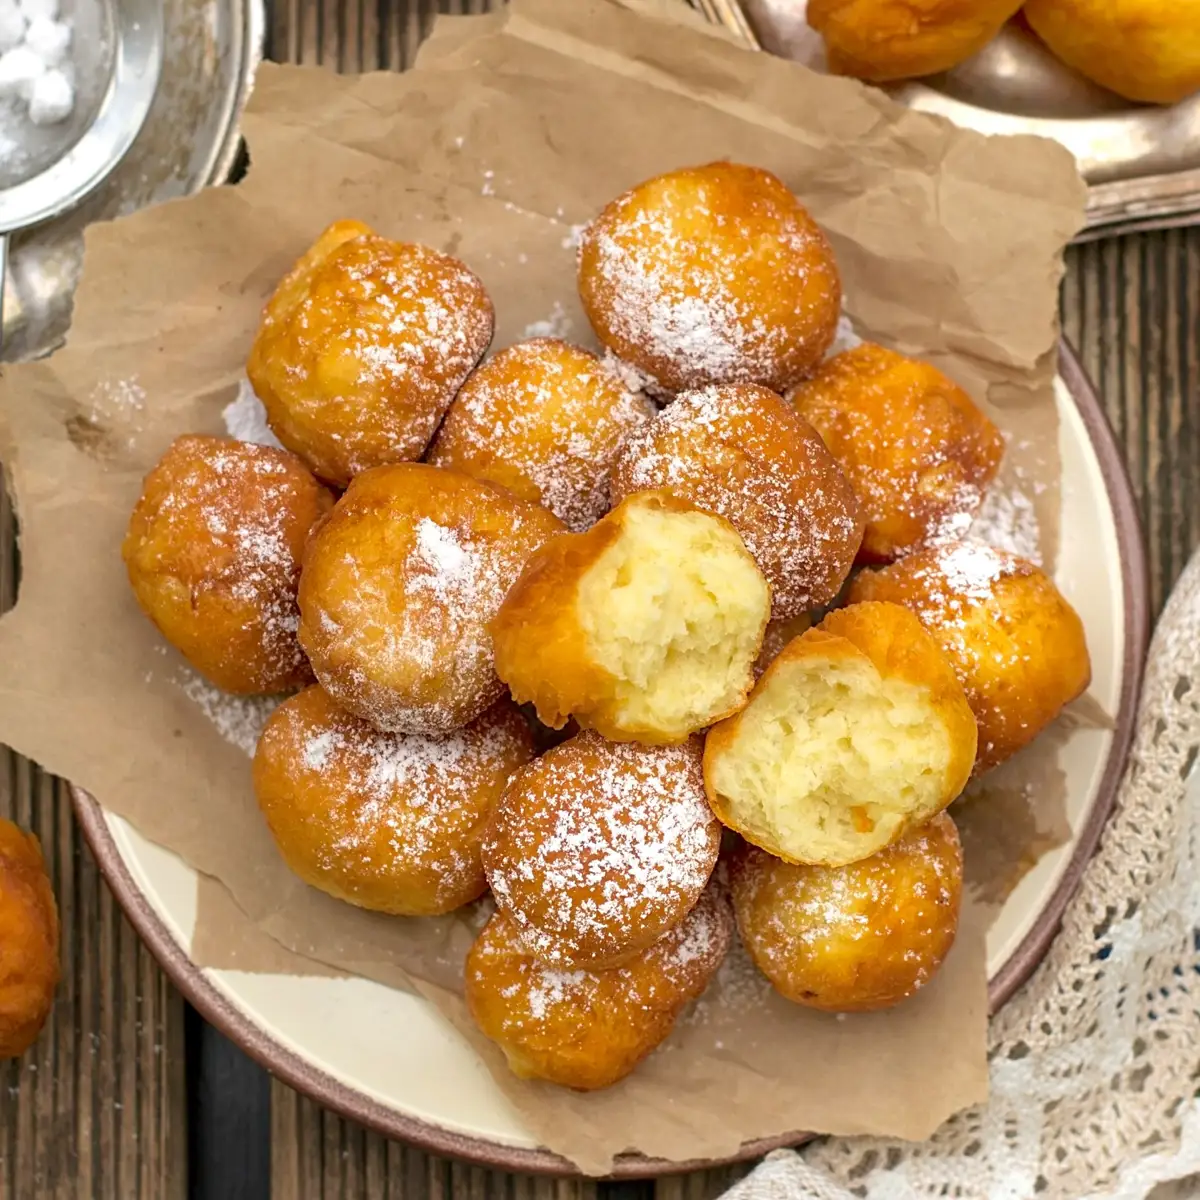
POLYGON ((562 529, 496 484, 424 463, 356 475, 313 534, 300 644, 343 708, 395 733, 449 733, 504 692, 487 623, 562 529))

